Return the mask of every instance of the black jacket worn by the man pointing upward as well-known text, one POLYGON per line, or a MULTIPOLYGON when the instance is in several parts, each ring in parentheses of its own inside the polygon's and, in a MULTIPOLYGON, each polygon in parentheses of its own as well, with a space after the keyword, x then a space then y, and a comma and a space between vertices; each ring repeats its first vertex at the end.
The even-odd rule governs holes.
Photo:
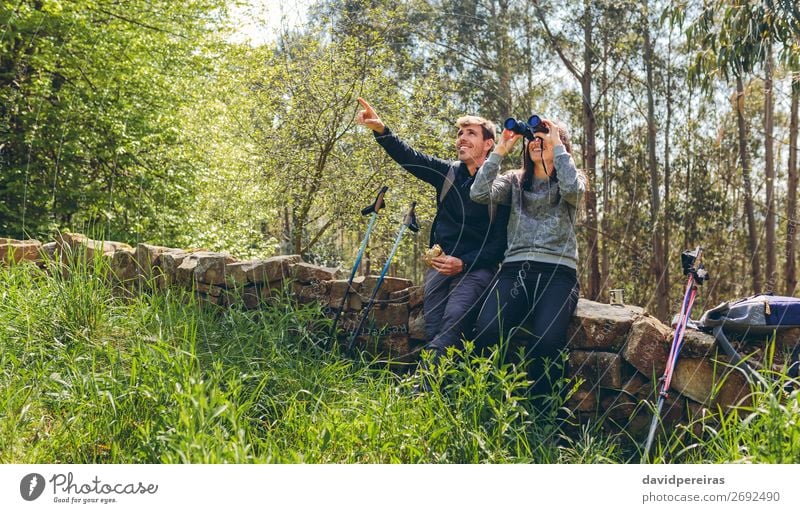
POLYGON ((439 244, 445 254, 458 257, 464 268, 496 267, 506 250, 506 225, 509 208, 498 205, 494 222, 489 222, 489 207, 469 199, 474 177, 467 165, 458 160, 447 161, 420 153, 397 137, 389 127, 382 134, 373 132, 386 153, 406 171, 436 188, 436 217, 431 227, 430 245, 439 244), (455 180, 444 198, 439 195, 451 166, 455 180))

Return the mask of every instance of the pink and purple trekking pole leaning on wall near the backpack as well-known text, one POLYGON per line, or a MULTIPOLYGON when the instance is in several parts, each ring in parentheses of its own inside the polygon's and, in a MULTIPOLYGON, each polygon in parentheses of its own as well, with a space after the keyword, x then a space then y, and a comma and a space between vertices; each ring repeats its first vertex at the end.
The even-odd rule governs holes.
POLYGON ((650 447, 653 445, 658 419, 661 415, 661 409, 664 407, 664 401, 668 396, 668 390, 672 383, 672 373, 675 371, 675 365, 678 363, 678 355, 683 346, 683 335, 686 333, 686 323, 689 322, 689 315, 692 312, 692 306, 697 297, 697 286, 702 285, 703 282, 709 278, 708 272, 703 268, 703 265, 700 264, 702 251, 703 249, 698 246, 694 251, 684 251, 681 254, 683 274, 688 275, 689 278, 686 282, 686 292, 683 295, 683 303, 681 303, 678 324, 675 326, 672 346, 670 347, 669 356, 667 357, 667 365, 664 369, 664 375, 659 380, 661 388, 658 393, 656 412, 655 415, 653 415, 653 421, 650 423, 650 432, 647 434, 647 442, 644 446, 644 454, 642 454, 642 463, 647 463, 650 457, 650 447))

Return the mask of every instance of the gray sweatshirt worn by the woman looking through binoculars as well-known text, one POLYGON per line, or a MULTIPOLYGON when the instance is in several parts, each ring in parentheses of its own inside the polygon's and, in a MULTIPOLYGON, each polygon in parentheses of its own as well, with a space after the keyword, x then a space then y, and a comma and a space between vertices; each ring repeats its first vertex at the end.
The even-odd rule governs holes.
POLYGON ((563 145, 555 146, 553 155, 556 179, 534 179, 531 191, 522 189, 518 172, 498 176, 503 157, 497 153, 489 155, 475 175, 472 201, 511 206, 503 262, 533 260, 577 269, 575 218, 586 179, 563 145))

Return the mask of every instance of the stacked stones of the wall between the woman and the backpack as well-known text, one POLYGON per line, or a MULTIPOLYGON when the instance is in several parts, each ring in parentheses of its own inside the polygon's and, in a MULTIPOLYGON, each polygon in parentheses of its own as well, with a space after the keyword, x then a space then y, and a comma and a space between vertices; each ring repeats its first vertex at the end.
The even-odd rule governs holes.
MULTIPOLYGON (((602 414, 629 433, 646 432, 653 413, 644 401, 655 400, 673 334, 642 308, 579 300, 568 331, 568 373, 582 384, 567 406, 585 417, 602 414)), ((714 337, 689 330, 662 419, 667 425, 686 421, 703 408, 739 404, 748 392, 744 373, 717 351, 714 337)))

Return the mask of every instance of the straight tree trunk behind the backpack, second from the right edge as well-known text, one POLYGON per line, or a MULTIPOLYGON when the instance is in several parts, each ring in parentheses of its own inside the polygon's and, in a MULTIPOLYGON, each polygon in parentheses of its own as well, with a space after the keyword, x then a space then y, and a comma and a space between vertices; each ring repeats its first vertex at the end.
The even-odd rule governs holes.
POLYGON ((772 45, 767 44, 767 55, 764 62, 764 165, 767 189, 767 291, 777 288, 777 257, 775 248, 775 158, 773 152, 773 133, 775 121, 772 106, 772 45))

